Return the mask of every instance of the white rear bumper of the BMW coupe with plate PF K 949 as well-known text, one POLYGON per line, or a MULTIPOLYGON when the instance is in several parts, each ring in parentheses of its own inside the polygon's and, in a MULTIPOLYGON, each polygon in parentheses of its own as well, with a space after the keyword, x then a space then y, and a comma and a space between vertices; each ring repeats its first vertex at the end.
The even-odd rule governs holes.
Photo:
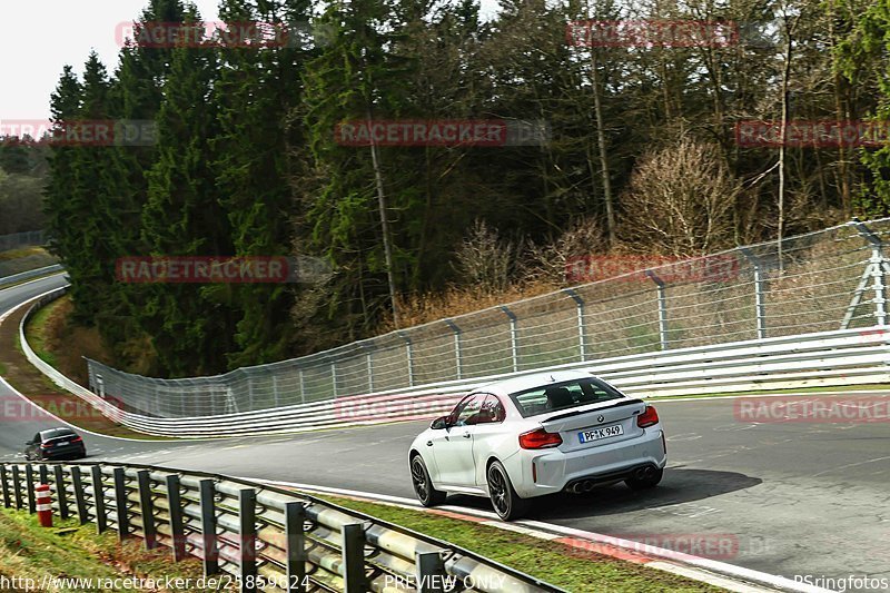
POLYGON ((523 498, 562 492, 584 481, 597 484, 633 477, 643 467, 663 468, 668 463, 662 431, 646 428, 636 438, 564 453, 560 449, 526 451, 508 459, 507 472, 523 498))

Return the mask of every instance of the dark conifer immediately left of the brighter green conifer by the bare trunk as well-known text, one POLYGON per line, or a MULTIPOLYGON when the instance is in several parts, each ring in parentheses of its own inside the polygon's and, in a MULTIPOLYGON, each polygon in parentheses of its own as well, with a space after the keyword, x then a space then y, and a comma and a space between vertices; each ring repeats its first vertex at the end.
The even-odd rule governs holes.
MULTIPOLYGON (((296 30, 308 20, 309 3, 227 1, 221 17, 233 29, 259 22, 278 31, 296 30)), ((238 42, 224 47, 214 100, 220 130, 214 140, 214 168, 220 204, 231 225, 238 256, 288 256, 291 253, 289 152, 300 150, 299 122, 288 115, 301 99, 300 69, 307 50, 300 40, 283 36, 258 47, 238 42)), ((239 312, 233 367, 286 356, 293 289, 286 284, 245 284, 231 288, 239 312)))

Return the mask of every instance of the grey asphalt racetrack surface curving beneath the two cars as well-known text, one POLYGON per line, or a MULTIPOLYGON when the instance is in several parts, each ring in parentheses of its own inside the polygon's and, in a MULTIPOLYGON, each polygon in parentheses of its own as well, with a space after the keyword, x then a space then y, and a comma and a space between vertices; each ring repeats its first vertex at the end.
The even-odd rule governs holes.
MULTIPOLYGON (((52 277, 0 290, 0 315, 61 284, 52 277)), ((0 384, 0 397, 11 395, 0 384)), ((736 421, 733 402, 657 404, 669 466, 654 491, 615 485, 545 497, 530 520, 641 541, 731 537, 738 552, 715 560, 789 579, 890 577, 890 424, 752 424, 736 421)), ((3 419, 4 461, 20 458, 21 444, 52 425, 3 419)), ((212 442, 85 439, 93 459, 413 497, 406 449, 423 427, 402 423, 212 442)), ((451 502, 490 508, 479 498, 451 502)))

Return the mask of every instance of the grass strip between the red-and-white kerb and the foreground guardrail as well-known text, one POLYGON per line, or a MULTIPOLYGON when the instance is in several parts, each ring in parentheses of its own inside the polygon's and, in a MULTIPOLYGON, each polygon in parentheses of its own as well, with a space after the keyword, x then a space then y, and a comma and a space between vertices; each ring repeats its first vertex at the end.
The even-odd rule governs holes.
POLYGON ((347 508, 445 540, 573 593, 723 591, 720 587, 554 541, 399 506, 314 494, 347 508))

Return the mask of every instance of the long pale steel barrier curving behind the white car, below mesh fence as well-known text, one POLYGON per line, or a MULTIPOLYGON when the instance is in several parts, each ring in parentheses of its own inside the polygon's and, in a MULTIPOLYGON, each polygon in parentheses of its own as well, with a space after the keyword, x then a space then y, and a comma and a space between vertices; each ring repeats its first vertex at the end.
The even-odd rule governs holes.
POLYGON ((890 382, 890 327, 876 326, 620 356, 256 412, 159 417, 119 409, 34 354, 24 338, 24 325, 37 308, 63 293, 65 288, 60 288, 42 295, 23 316, 19 333, 24 355, 53 383, 92 404, 115 422, 164 436, 288 433, 433 418, 448 411, 462 394, 485 383, 570 368, 595 373, 639 397, 890 382))

